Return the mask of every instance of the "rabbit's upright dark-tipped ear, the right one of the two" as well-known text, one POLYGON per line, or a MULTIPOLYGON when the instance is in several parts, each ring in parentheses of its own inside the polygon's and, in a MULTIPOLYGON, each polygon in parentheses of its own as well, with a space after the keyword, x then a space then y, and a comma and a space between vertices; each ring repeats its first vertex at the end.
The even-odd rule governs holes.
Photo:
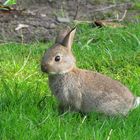
POLYGON ((63 41, 62 41, 62 43, 61 43, 63 46, 67 47, 69 50, 71 50, 75 32, 76 32, 76 27, 73 28, 73 29, 65 36, 65 38, 63 39, 63 41))

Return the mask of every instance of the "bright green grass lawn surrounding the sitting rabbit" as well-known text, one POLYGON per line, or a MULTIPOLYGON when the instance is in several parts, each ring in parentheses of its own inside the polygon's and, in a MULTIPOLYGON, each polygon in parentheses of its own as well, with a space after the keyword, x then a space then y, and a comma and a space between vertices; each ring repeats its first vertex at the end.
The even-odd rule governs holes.
MULTIPOLYGON (((77 65, 117 79, 140 96, 139 38, 138 24, 118 29, 79 25, 73 46, 77 65)), ((40 70, 41 56, 52 43, 0 45, 0 139, 139 140, 140 108, 126 117, 58 114, 40 70)))

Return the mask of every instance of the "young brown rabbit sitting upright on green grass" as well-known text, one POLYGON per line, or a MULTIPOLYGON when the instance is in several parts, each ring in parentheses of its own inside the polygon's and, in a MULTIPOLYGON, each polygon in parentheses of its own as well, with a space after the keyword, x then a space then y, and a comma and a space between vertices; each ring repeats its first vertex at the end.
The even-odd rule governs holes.
POLYGON ((56 44, 45 52, 41 63, 42 71, 48 73, 50 89, 60 102, 61 109, 126 115, 140 105, 140 97, 134 97, 120 82, 76 67, 71 51, 75 31, 74 28, 61 33, 56 44))

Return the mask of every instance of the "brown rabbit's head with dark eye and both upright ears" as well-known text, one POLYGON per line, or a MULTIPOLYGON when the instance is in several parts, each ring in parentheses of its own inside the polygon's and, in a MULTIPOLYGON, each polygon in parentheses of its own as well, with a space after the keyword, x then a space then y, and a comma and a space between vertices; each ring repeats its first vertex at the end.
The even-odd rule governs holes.
POLYGON ((75 58, 71 47, 76 28, 61 32, 56 39, 55 45, 50 47, 44 54, 41 69, 48 74, 63 74, 75 67, 75 58))

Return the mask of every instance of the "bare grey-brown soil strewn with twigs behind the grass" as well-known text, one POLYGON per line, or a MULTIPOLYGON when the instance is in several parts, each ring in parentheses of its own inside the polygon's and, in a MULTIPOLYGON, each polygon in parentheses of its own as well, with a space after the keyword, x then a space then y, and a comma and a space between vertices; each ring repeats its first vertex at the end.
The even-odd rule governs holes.
MULTIPOLYGON (((73 20, 114 19, 132 9, 132 3, 98 3, 93 0, 19 0, 16 12, 0 13, 0 43, 48 41, 73 20)), ((125 21, 135 21, 138 12, 128 12, 125 21), (130 16, 129 15, 133 15, 130 16)))

